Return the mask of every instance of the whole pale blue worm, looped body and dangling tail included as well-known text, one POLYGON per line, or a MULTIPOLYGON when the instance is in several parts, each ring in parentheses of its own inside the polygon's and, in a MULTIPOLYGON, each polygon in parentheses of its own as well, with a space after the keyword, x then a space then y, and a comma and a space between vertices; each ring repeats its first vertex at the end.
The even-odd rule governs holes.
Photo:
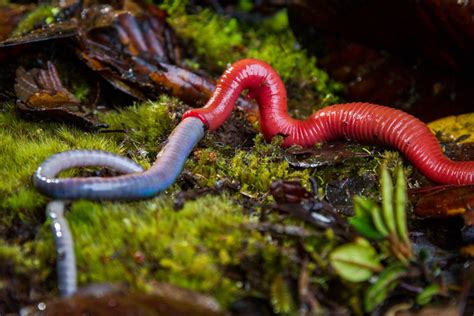
MULTIPOLYGON (((174 183, 184 167, 194 146, 204 136, 204 125, 199 119, 182 121, 170 135, 167 144, 157 156, 150 170, 143 172, 134 161, 97 150, 73 150, 56 154, 43 162, 34 175, 35 186, 55 198, 73 199, 139 199, 165 190, 174 183), (113 178, 66 178, 56 179, 61 171, 85 166, 110 167, 121 173, 132 173, 113 178), (95 186, 94 182, 100 181, 95 186), (113 192, 117 188, 119 194, 113 192), (91 191, 92 188, 99 190, 91 191), (149 186, 147 188, 146 186, 149 186), (66 190, 64 189, 66 188, 66 190), (76 190, 68 194, 67 190, 76 190)), ((64 201, 52 201, 47 206, 57 252, 57 278, 60 295, 68 297, 77 290, 77 268, 74 244, 68 223, 64 217, 64 201)))

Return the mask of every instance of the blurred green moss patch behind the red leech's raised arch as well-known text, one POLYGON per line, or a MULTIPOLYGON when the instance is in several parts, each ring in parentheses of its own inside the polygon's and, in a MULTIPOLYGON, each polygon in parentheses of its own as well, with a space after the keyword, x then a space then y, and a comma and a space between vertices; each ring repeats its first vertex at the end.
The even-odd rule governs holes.
MULTIPOLYGON (((316 58, 299 47, 284 10, 255 28, 208 9, 188 15, 175 9, 169 21, 182 38, 190 41, 198 64, 216 76, 239 59, 257 58, 275 68, 287 84, 290 105, 299 105, 304 115, 339 100, 337 94, 342 86, 331 81, 326 72, 317 68, 316 58), (309 103, 306 108, 301 106, 303 100, 309 103)), ((196 68, 196 61, 190 64, 196 68)))

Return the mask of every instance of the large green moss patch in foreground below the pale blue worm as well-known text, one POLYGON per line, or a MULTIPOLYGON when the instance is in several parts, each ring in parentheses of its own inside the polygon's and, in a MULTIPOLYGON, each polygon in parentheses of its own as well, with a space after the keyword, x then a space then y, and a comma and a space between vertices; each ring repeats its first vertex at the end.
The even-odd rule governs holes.
POLYGON ((136 203, 79 201, 67 219, 81 284, 126 281, 146 290, 154 281, 165 281, 210 293, 223 303, 242 292, 225 267, 252 256, 249 245, 263 242, 260 234, 242 230, 251 219, 226 196, 200 198, 179 212, 163 197, 136 203))

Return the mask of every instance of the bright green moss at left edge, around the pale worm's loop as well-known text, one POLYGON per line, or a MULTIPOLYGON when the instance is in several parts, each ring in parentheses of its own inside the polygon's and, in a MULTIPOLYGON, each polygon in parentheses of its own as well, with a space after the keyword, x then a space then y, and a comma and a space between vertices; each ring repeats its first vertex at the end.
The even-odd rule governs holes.
POLYGON ((105 135, 92 135, 57 123, 21 120, 12 105, 0 114, 0 224, 15 218, 37 218, 46 199, 31 184, 38 165, 54 153, 70 149, 102 149, 121 153, 121 147, 105 135))

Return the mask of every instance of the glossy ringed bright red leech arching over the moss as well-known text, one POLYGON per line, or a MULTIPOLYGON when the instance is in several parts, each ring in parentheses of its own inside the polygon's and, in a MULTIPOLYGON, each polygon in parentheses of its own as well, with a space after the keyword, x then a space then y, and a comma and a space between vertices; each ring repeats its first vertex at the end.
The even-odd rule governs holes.
POLYGON ((283 135, 283 146, 312 146, 340 138, 380 143, 398 149, 434 182, 474 184, 474 161, 448 159, 429 128, 403 111, 370 103, 346 103, 323 108, 305 120, 290 117, 282 80, 270 65, 255 59, 230 66, 207 104, 186 112, 183 119, 197 117, 215 130, 230 116, 245 89, 259 105, 260 128, 267 140, 283 135))

